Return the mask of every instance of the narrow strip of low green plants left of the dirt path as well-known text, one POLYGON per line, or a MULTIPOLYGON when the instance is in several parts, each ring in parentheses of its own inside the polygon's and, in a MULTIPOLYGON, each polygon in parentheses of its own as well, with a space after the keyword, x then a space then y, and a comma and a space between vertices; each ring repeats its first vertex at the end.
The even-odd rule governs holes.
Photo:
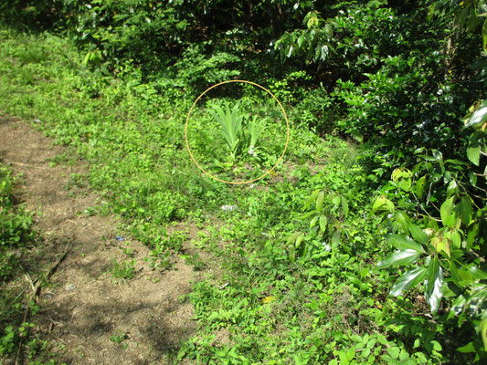
POLYGON ((33 214, 20 203, 20 183, 0 165, 0 359, 14 354, 21 360, 17 350, 23 343, 30 363, 53 364, 56 356, 49 354, 48 341, 37 335, 35 316, 40 308, 24 294, 22 276, 44 279, 39 254, 44 240, 34 229, 33 214))

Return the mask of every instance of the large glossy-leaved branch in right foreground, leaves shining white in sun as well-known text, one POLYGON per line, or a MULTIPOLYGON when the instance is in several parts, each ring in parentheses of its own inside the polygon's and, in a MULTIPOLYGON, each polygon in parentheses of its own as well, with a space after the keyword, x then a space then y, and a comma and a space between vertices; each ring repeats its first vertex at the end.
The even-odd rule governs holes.
MULTIPOLYGON (((486 149, 485 131, 480 126, 484 123, 482 108, 483 104, 465 119, 467 128, 477 127, 471 131, 471 136, 475 136, 479 150, 480 144, 482 150, 486 149)), ((478 165, 480 152, 472 156, 471 144, 466 155, 471 163, 478 165)), ((423 284, 431 312, 437 313, 442 297, 446 297, 448 304, 445 303, 443 310, 448 309, 449 313, 443 320, 457 316, 459 327, 470 321, 469 325, 481 335, 485 346, 482 321, 487 316, 484 284, 487 270, 482 255, 485 254, 487 237, 487 199, 483 189, 486 174, 475 172, 469 162, 444 161, 438 150, 433 150, 432 156, 421 154, 419 157, 423 161, 412 172, 396 169, 392 173, 390 189, 384 189, 384 193, 397 201, 397 210, 387 209, 394 212, 386 212, 385 220, 398 232, 386 236, 388 244, 395 246, 397 251, 383 258, 377 267, 405 266, 405 272, 389 294, 402 296, 408 289, 423 284), (478 182, 478 176, 483 182, 478 182)), ((377 202, 385 199, 384 195, 377 198, 375 207, 382 206, 377 202)), ((386 201, 387 205, 393 204, 388 199, 386 201)), ((395 208, 394 204, 392 208, 395 208)), ((477 360, 485 357, 478 338, 459 350, 467 350, 469 346, 477 360)))

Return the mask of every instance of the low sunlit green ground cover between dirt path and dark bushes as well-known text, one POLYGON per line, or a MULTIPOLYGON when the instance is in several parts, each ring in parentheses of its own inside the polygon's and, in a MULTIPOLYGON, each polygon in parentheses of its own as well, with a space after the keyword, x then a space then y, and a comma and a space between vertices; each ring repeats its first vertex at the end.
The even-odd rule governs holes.
MULTIPOLYGON (((188 238, 185 232, 168 234, 169 224, 200 227, 193 244, 221 267, 189 295, 200 329, 183 344, 180 360, 432 364, 453 359, 451 349, 440 344, 451 334, 428 318, 405 314, 404 308, 416 308, 414 294, 386 298, 388 273, 374 268, 376 257, 386 252, 384 231, 370 214, 376 192, 367 187, 358 148, 299 128, 299 110, 290 108, 291 140, 277 169, 280 178, 269 175, 252 187, 219 183, 200 172, 185 151, 184 120, 194 100, 175 87, 171 75, 144 82, 137 68, 126 65, 117 77, 102 76, 82 65, 69 41, 48 34, 4 29, 0 43, 0 110, 41 120, 33 126, 90 163, 86 183, 110 202, 103 210, 121 215, 127 231, 151 249, 154 268, 170 267, 171 255, 180 253, 188 238), (334 231, 311 224, 303 209, 316 190, 323 191, 328 224, 339 231, 339 240, 334 231), (343 203, 340 207, 344 197, 346 212, 343 203), (237 209, 224 211, 223 205, 237 209), (216 228, 215 222, 223 225, 216 228), (301 238, 291 239, 296 232, 301 238), (324 249, 328 245, 331 250, 324 249), (223 329, 229 338, 221 342, 223 329)), ((268 110, 262 104, 256 112, 268 110)), ((203 110, 194 116, 196 160, 212 162, 208 151, 218 155, 225 143, 216 144, 210 116, 203 110)), ((282 148, 285 127, 276 128, 266 128, 262 137, 270 151, 282 148)), ((266 161, 263 168, 272 165, 271 157, 266 161)), ((234 178, 232 173, 222 176, 234 178)), ((80 183, 84 179, 75 175, 69 185, 80 183)), ((185 259, 203 267, 196 255, 185 259)), ((130 279, 133 265, 114 261, 111 273, 130 279)))

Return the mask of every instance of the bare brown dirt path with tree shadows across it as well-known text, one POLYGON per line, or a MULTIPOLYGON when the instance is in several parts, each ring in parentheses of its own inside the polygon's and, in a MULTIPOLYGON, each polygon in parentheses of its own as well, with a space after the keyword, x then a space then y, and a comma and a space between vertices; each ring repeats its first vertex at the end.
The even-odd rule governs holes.
MULTIPOLYGON (((196 329, 194 311, 181 296, 198 275, 177 258, 175 268, 159 273, 144 261, 148 249, 139 242, 115 239, 118 223, 112 216, 79 214, 100 200, 74 184, 71 173, 83 176, 82 162, 74 167, 49 161, 66 149, 52 146, 28 123, 0 116, 0 160, 23 173, 26 208, 37 211, 43 248, 55 262, 67 245, 73 248, 41 288, 42 311, 37 315, 59 360, 67 364, 164 364, 169 352, 196 329), (71 183, 72 185, 72 183, 71 183), (132 257, 120 246, 130 245, 132 257), (111 259, 135 261, 136 276, 117 285, 108 272, 111 259), (117 336, 117 337, 113 337, 117 336), (120 342, 120 343, 118 343, 120 342)), ((44 252, 43 252, 44 254, 44 252)))

